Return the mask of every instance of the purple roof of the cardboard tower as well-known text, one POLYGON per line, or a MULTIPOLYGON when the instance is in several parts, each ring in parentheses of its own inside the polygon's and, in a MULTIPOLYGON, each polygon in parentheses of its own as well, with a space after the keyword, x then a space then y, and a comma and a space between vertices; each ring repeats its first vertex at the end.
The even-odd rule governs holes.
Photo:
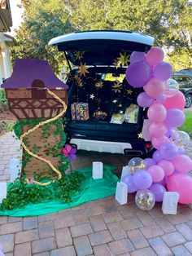
POLYGON ((2 84, 2 88, 31 88, 34 80, 41 80, 46 88, 68 89, 68 86, 55 76, 46 60, 16 60, 13 73, 7 82, 2 84))

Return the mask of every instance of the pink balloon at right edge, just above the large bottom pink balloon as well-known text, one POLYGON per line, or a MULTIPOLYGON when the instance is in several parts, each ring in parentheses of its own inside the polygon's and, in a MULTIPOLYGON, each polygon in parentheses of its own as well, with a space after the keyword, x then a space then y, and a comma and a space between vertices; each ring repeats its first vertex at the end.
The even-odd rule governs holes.
POLYGON ((192 160, 190 157, 185 155, 179 155, 172 160, 172 164, 175 167, 175 170, 181 173, 188 173, 192 170, 192 160))

